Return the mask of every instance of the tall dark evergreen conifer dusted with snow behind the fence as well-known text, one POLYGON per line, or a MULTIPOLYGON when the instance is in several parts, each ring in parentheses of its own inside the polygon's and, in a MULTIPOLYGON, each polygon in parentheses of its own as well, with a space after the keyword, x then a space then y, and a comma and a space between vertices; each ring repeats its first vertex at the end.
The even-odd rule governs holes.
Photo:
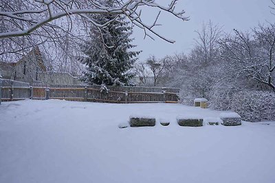
MULTIPOLYGON (((113 1, 105 1, 106 6, 113 5, 113 1)), ((111 14, 97 14, 91 17, 96 23, 104 24, 115 18, 111 14)), ((87 84, 105 85, 129 85, 133 73, 129 69, 137 60, 140 51, 129 51, 135 47, 129 38, 132 27, 125 17, 109 23, 106 27, 91 26, 90 40, 83 45, 85 57, 82 62, 86 64, 87 71, 83 75, 83 81, 87 84)))

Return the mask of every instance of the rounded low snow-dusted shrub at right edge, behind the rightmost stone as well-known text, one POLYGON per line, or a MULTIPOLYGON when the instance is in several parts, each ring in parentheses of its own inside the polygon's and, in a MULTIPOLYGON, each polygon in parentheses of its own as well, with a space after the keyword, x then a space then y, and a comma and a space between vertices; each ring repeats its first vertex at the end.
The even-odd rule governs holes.
POLYGON ((275 119, 275 93, 244 90, 235 93, 231 101, 231 110, 238 112, 245 121, 275 119))

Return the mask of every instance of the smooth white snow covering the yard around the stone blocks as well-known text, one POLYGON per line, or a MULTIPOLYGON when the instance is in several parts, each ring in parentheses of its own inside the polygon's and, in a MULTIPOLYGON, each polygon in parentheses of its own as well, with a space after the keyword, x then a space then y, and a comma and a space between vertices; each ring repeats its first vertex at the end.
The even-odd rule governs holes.
POLYGON ((220 112, 181 104, 0 105, 0 182, 275 182, 275 123, 181 127, 220 112), (170 121, 118 128, 129 116, 170 121))

